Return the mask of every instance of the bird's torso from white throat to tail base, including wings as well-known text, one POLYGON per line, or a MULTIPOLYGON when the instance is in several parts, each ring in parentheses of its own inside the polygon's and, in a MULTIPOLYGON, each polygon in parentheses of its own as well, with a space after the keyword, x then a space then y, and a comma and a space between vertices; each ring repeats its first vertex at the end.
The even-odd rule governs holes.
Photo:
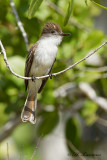
MULTIPOLYGON (((26 61, 25 76, 43 76, 49 74, 55 62, 58 45, 61 43, 61 36, 42 37, 35 43, 28 55, 26 61)), ((25 86, 29 86, 30 93, 38 93, 46 83, 45 80, 25 80, 25 86)))

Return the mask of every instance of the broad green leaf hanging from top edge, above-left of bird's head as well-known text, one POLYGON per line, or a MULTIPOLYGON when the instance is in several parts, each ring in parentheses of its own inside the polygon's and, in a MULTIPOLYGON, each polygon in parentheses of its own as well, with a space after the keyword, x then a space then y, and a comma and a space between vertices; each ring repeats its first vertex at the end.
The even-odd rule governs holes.
POLYGON ((43 0, 32 0, 29 6, 28 18, 32 18, 43 0))

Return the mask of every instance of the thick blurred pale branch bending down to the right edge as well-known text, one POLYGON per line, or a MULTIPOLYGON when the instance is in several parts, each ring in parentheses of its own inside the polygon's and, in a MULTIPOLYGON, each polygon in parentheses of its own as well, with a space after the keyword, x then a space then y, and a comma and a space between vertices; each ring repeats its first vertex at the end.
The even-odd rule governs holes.
MULTIPOLYGON (((101 109, 103 109, 104 111, 107 112, 107 99, 104 97, 98 96, 96 91, 88 83, 81 82, 81 83, 79 83, 79 85, 76 85, 75 83, 69 82, 69 83, 66 83, 66 84, 60 86, 59 88, 57 88, 54 91, 54 96, 56 98, 59 98, 59 97, 64 98, 66 96, 71 98, 74 95, 79 97, 80 95, 82 96, 84 94, 89 99, 91 99, 93 102, 95 102, 101 109)), ((80 100, 76 101, 76 103, 72 104, 72 107, 70 110, 73 111, 73 113, 74 113, 75 110, 80 109, 83 101, 84 101, 84 99, 82 99, 82 98, 80 100)))

